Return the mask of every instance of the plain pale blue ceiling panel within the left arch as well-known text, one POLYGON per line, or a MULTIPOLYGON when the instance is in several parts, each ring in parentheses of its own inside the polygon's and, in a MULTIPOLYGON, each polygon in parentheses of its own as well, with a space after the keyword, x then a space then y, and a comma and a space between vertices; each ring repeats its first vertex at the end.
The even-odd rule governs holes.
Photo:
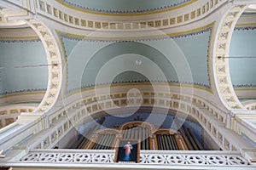
POLYGON ((1 39, 0 51, 1 95, 46 90, 47 59, 39 39, 1 39))

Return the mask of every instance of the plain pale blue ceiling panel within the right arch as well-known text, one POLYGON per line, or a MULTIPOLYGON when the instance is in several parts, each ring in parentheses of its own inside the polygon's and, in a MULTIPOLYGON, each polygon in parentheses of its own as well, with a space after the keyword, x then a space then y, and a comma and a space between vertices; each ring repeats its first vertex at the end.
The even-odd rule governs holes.
POLYGON ((230 77, 235 88, 256 88, 256 26, 237 27, 230 43, 230 77))

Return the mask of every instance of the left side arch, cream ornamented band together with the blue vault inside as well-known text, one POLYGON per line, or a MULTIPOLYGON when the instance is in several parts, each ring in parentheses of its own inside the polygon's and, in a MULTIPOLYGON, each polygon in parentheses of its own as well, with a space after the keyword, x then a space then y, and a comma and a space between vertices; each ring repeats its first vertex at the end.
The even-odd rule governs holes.
POLYGON ((26 116, 43 115, 55 105, 61 89, 61 55, 55 37, 42 21, 25 17, 19 9, 0 10, 4 79, 0 81, 0 105, 4 105, 0 111, 3 110, 3 116, 15 116, 9 123, 20 115, 20 122, 26 124, 37 118, 26 116), (11 18, 10 13, 20 16, 19 20, 11 18))

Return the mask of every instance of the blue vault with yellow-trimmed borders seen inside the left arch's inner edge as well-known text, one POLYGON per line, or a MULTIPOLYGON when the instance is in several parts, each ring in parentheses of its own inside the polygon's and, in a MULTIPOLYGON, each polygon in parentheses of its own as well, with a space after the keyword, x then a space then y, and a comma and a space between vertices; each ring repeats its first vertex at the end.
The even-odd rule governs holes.
POLYGON ((5 127, 21 112, 38 107, 47 90, 49 71, 43 42, 25 22, 0 25, 0 51, 0 127, 5 127))

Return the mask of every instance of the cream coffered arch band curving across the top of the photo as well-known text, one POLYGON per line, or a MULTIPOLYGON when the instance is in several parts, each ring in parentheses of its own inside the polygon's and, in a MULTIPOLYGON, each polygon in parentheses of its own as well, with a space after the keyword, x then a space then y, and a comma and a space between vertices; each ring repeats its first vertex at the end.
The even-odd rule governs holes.
MULTIPOLYGON (((158 29, 166 29, 176 26, 183 26, 188 23, 193 23, 196 20, 201 20, 201 18, 212 14, 214 10, 227 3, 227 0, 213 1, 213 0, 201 0, 195 1, 191 0, 190 3, 184 3, 176 8, 155 8, 153 11, 131 11, 132 13, 127 13, 125 11, 121 13, 114 13, 113 10, 107 11, 84 11, 82 8, 73 8, 63 1, 46 1, 37 0, 38 8, 37 12, 61 22, 61 24, 71 27, 76 27, 82 30, 98 30, 104 29, 104 31, 132 31, 132 30, 150 30, 150 27, 158 29), (192 1, 195 1, 193 3, 192 1), (60 3, 61 2, 61 3, 60 3), (188 6, 189 5, 189 6, 188 6), (179 8, 180 7, 180 8, 179 8), (55 8, 55 10, 52 10, 55 8), (184 12, 180 12, 184 9, 184 12), (63 10, 65 13, 63 13, 63 10), (106 13, 107 12, 107 13, 106 13), (132 19, 130 16, 137 16, 139 19, 132 19), (154 16, 156 15, 156 16, 154 16), (99 17, 101 16, 101 17, 99 17), (170 17, 172 16, 172 17, 170 17), (123 17, 128 17, 129 22, 124 22, 123 17), (86 19, 86 20, 84 20, 86 19)), ((166 6, 170 5, 167 4, 166 6)), ((88 6, 86 6, 88 8, 88 6)), ((135 18, 137 18, 135 17, 135 18)))

